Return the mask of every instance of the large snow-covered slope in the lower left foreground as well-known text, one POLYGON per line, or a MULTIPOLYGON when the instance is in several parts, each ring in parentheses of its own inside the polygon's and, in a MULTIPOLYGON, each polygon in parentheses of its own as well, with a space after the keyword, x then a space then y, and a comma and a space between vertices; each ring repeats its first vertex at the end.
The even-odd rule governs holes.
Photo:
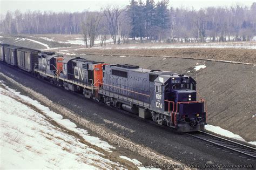
MULTIPOLYGON (((9 89, 2 82, 0 85, 0 150, 4 162, 1 168, 124 168, 105 156, 112 152, 113 146, 92 137, 38 101, 9 89)), ((137 165, 139 161, 133 159, 133 162, 137 165)))

